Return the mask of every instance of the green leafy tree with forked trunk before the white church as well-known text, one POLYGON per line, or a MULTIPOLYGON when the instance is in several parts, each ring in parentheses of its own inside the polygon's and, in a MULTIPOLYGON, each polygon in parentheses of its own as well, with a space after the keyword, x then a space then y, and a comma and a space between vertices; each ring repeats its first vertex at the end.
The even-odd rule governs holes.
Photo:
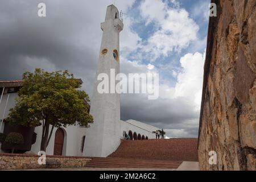
POLYGON ((68 71, 35 69, 34 73, 23 73, 23 81, 7 121, 22 126, 42 125, 40 150, 46 151, 54 127, 89 127, 93 122, 88 112, 89 96, 77 89, 81 80, 68 71))

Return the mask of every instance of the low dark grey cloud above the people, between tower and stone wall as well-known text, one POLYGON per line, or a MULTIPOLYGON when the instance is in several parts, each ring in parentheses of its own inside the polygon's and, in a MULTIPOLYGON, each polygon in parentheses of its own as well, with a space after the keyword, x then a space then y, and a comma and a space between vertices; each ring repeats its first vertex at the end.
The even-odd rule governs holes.
POLYGON ((125 121, 135 119, 163 129, 183 129, 187 134, 182 137, 197 136, 199 111, 191 110, 185 98, 147 100, 142 94, 123 94, 121 103, 121 119, 125 121))

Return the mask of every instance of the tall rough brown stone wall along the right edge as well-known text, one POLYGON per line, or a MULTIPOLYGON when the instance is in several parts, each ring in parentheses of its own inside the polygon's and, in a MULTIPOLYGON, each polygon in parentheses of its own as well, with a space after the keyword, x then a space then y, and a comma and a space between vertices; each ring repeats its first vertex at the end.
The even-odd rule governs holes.
POLYGON ((210 18, 199 131, 201 170, 256 170, 256 1, 219 0, 210 18), (209 151, 217 164, 209 164, 209 151))

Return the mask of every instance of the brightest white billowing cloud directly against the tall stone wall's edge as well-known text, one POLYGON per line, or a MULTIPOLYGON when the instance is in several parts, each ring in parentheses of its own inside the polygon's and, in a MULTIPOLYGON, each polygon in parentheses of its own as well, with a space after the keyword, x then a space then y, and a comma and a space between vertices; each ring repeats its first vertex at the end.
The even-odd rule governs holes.
POLYGON ((175 87, 160 85, 160 97, 171 99, 184 97, 191 105, 191 109, 200 110, 204 59, 205 53, 199 52, 187 53, 181 57, 182 71, 179 73, 173 71, 177 77, 175 87))

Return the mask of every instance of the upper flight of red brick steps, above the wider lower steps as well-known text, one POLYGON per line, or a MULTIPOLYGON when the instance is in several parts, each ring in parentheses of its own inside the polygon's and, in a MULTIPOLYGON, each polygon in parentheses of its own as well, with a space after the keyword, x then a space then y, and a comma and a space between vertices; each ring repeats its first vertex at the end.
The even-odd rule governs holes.
POLYGON ((197 138, 125 140, 110 157, 197 162, 197 138))

